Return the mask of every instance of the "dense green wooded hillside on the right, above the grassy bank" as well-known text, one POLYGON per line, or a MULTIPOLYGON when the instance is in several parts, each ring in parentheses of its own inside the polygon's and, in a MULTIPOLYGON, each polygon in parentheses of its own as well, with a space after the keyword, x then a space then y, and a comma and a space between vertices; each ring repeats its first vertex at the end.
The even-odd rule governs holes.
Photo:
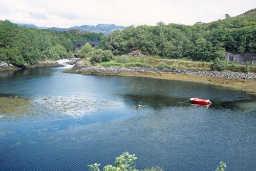
POLYGON ((105 37, 102 49, 113 47, 114 54, 124 54, 140 49, 146 54, 165 58, 187 57, 193 60, 213 61, 223 59, 225 52, 256 52, 255 9, 237 17, 211 23, 198 22, 193 26, 180 24, 127 27, 105 37))

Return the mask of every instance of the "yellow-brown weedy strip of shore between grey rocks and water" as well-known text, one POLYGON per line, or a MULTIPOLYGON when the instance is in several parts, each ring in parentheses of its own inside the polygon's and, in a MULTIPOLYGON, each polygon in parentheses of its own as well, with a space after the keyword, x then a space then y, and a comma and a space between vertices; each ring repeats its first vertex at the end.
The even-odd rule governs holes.
POLYGON ((193 75, 186 73, 157 73, 157 72, 94 72, 75 68, 72 70, 63 71, 65 73, 86 74, 86 75, 110 75, 110 76, 133 76, 147 77, 155 79, 181 80, 205 83, 214 86, 221 86, 231 90, 243 91, 248 94, 256 95, 256 80, 255 79, 237 79, 237 78, 219 78, 202 75, 193 75))

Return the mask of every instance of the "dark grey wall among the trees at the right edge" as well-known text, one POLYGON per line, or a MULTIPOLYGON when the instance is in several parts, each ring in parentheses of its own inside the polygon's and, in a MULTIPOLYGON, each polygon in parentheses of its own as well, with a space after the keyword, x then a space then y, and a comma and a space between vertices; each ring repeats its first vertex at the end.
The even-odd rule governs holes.
POLYGON ((246 61, 248 61, 251 66, 256 65, 256 53, 239 54, 226 52, 225 59, 226 61, 233 61, 238 65, 245 65, 246 61))

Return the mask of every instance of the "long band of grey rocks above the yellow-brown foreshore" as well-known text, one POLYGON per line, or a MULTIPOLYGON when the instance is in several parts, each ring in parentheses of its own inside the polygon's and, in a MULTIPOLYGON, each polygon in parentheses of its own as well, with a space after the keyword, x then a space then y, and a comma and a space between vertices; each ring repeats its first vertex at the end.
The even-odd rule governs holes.
POLYGON ((80 74, 104 74, 104 73, 165 73, 165 74, 189 74, 198 76, 208 76, 216 78, 233 78, 233 79, 256 79, 256 74, 252 72, 231 72, 231 71, 200 71, 200 70, 184 70, 184 69, 159 69, 147 67, 92 67, 88 63, 76 63, 70 73, 80 74))

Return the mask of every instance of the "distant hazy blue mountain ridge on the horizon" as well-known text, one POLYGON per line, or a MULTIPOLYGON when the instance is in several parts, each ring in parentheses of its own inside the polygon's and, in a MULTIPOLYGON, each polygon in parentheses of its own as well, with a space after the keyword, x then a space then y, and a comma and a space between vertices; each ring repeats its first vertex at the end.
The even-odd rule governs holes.
POLYGON ((48 29, 48 30, 56 30, 56 31, 69 31, 69 30, 79 30, 79 31, 87 31, 87 32, 95 32, 95 33, 103 33, 103 34, 110 34, 116 29, 123 30, 125 29, 124 26, 116 26, 115 24, 98 24, 97 26, 73 26, 70 28, 58 28, 58 27, 37 27, 32 24, 17 24, 20 27, 27 27, 27 28, 34 28, 34 29, 48 29))

